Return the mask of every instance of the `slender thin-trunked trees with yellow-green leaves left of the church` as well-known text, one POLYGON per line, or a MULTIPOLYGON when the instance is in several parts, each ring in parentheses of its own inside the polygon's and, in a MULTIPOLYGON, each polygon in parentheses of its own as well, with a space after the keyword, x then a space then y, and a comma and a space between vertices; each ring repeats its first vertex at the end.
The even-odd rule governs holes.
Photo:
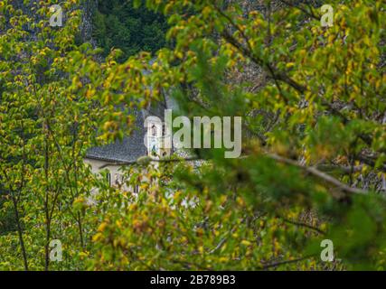
POLYGON ((98 51, 75 44, 81 11, 74 1, 62 5, 69 11, 62 29, 38 20, 49 19, 49 7, 31 1, 23 10, 0 2, 9 20, 0 33, 1 203, 17 228, 0 238, 4 269, 80 269, 78 256, 87 252, 92 231, 85 210, 73 203, 85 200, 92 188, 82 157, 98 143, 92 132, 106 111, 92 98, 97 87, 80 80, 86 74, 94 81, 102 77, 94 60, 98 51), (64 256, 51 264, 55 238, 64 256))

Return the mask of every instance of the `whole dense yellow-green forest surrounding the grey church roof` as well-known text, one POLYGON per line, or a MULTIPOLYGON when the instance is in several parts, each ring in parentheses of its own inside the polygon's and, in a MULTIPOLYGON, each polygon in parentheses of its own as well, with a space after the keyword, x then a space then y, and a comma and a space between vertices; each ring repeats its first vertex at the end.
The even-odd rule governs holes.
POLYGON ((385 10, 0 0, 0 270, 384 270, 385 10), (241 117, 240 156, 224 138, 93 172, 165 98, 241 117))

